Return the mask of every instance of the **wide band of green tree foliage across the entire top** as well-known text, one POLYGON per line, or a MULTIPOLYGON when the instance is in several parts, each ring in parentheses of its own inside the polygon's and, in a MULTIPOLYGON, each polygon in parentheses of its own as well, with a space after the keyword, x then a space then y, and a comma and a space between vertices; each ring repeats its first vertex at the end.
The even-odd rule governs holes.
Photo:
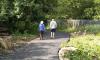
POLYGON ((11 31, 48 18, 100 19, 100 0, 0 0, 0 21, 11 31))

